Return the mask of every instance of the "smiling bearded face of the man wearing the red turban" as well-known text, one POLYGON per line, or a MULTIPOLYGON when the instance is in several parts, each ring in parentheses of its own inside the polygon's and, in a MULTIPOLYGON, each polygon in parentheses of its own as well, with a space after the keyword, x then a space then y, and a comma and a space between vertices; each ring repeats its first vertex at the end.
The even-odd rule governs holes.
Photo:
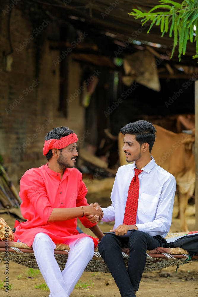
POLYGON ((69 146, 66 146, 62 149, 62 151, 59 151, 59 156, 57 159, 58 167, 61 170, 64 170, 65 168, 73 168, 75 165, 75 159, 78 156, 78 152, 76 150, 76 143, 71 143, 69 146))

